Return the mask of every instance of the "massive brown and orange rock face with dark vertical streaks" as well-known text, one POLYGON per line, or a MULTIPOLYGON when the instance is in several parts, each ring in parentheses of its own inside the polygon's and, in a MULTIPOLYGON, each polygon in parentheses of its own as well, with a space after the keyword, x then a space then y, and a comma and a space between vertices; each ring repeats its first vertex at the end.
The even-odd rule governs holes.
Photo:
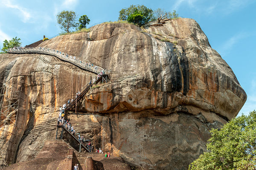
MULTIPOLYGON (((187 169, 206 150, 209 130, 235 117, 246 101, 233 71, 192 19, 143 29, 100 24, 39 46, 111 70, 111 81, 94 85, 79 103, 80 116, 68 118, 96 148, 147 169, 187 169)), ((30 160, 54 138, 58 107, 94 75, 43 54, 0 54, 0 62, 0 79, 22 86, 29 98, 16 156, 1 156, 8 163, 30 160)))

